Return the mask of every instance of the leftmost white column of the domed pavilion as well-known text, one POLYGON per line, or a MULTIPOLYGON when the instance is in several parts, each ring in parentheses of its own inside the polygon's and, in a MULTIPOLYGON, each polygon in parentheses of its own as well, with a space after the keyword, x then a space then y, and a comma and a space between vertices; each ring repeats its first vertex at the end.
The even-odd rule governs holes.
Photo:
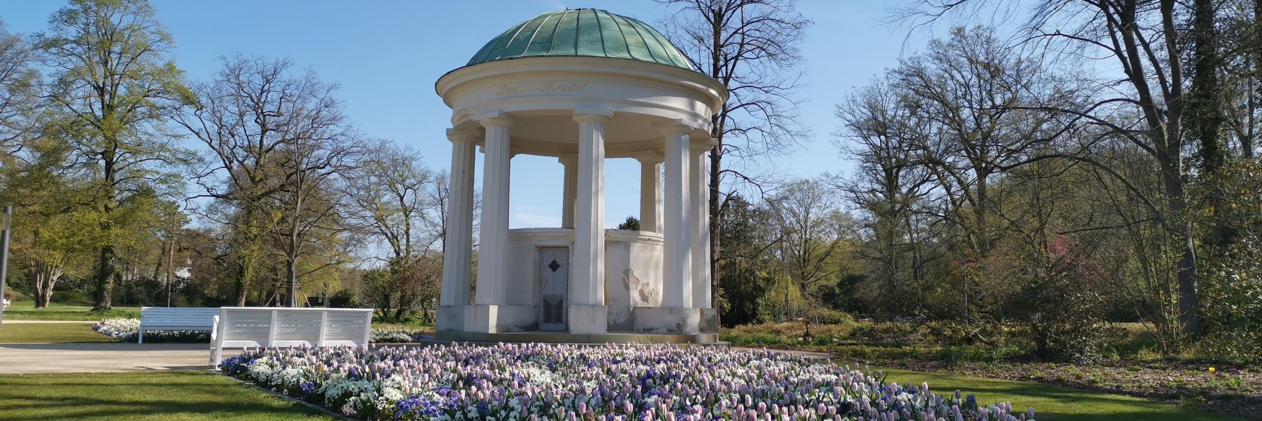
POLYGON ((439 305, 468 305, 473 253, 473 153, 477 134, 448 129, 447 139, 452 141, 452 179, 439 305))

